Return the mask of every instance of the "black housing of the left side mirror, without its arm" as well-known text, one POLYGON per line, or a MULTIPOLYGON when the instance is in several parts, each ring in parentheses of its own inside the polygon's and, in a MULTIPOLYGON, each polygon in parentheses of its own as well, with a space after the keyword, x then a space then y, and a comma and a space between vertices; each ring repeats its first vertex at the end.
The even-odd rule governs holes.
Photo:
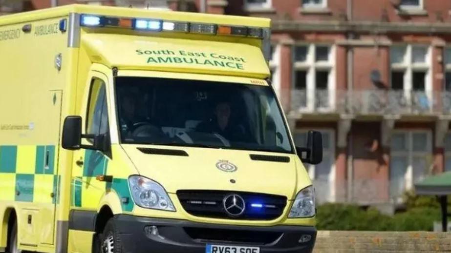
POLYGON ((64 149, 79 150, 82 146, 82 117, 67 116, 64 119, 62 143, 64 149))

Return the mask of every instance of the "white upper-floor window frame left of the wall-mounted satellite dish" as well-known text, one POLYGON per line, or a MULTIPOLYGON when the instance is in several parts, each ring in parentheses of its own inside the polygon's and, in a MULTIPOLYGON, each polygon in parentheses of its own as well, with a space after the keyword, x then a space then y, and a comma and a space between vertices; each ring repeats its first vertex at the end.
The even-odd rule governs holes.
POLYGON ((307 72, 306 76, 306 98, 307 103, 306 107, 295 108, 295 110, 299 110, 300 113, 305 112, 331 112, 335 110, 335 92, 336 92, 336 78, 335 78, 335 45, 334 44, 325 44, 325 43, 296 43, 292 49, 292 58, 293 58, 293 82, 292 87, 293 90, 296 87, 296 71, 304 70, 307 72), (306 46, 307 47, 307 56, 305 61, 296 61, 296 47, 297 46, 306 46), (316 61, 316 47, 327 46, 329 47, 329 57, 327 61, 316 61), (325 70, 329 71, 329 76, 327 78, 327 91, 329 98, 329 106, 328 107, 320 107, 315 108, 316 103, 316 71, 317 70, 325 70))

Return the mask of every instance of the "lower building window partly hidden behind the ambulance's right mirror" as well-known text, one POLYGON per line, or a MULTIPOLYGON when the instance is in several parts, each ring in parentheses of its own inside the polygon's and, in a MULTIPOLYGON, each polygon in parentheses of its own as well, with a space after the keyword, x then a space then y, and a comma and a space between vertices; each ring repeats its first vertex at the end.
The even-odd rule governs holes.
MULTIPOLYGON (((306 147, 307 131, 295 132, 294 141, 298 147, 306 147)), ((305 164, 306 170, 313 180, 318 202, 335 201, 335 131, 333 129, 318 130, 322 133, 322 162, 318 165, 305 164)))

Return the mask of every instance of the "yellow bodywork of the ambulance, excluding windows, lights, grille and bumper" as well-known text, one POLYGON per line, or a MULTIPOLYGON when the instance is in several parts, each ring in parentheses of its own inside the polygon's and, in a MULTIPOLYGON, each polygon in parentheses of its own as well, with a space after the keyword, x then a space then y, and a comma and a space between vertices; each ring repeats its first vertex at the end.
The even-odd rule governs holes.
POLYGON ((212 165, 217 160, 229 159, 238 167, 248 167, 249 151, 184 148, 190 158, 185 158, 181 166, 177 157, 148 156, 139 152, 136 145, 119 143, 113 68, 118 69, 118 76, 268 85, 264 78, 270 73, 261 52, 261 39, 78 27, 79 43, 70 46, 71 31, 62 32, 58 25, 66 19, 69 28, 73 13, 270 27, 269 19, 87 5, 1 17, 0 252, 6 247, 8 219, 13 212, 17 215, 19 249, 49 253, 58 249, 91 252, 93 232, 70 230, 64 235, 64 231, 59 231, 67 229, 64 224, 71 210, 99 212, 108 207, 113 214, 213 224, 315 224, 314 217, 287 218, 293 198, 311 185, 295 154, 288 155, 289 163, 261 161, 258 167, 238 170, 234 175, 237 183, 232 185, 228 182, 230 176, 212 169, 212 165), (27 24, 31 25, 31 32, 22 31, 27 24), (55 66, 59 55, 60 70, 55 66), (102 80, 107 88, 110 156, 61 148, 66 116, 79 115, 83 125, 86 124, 92 78, 102 80), (77 161, 83 161, 84 165, 77 165, 77 161), (161 170, 151 171, 149 167, 161 170), (102 182, 96 180, 96 175, 112 175, 114 180, 102 182), (177 212, 143 209, 134 205, 131 198, 125 202, 123 198, 130 197, 127 182, 130 175, 144 175, 160 182, 177 212), (281 217, 270 221, 200 218, 183 210, 175 195, 180 189, 277 194, 287 196, 288 204, 281 217))

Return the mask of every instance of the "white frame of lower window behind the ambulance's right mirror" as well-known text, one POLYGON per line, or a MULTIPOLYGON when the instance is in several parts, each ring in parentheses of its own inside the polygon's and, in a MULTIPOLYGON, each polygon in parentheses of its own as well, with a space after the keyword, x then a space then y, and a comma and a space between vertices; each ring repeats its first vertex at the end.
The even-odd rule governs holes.
MULTIPOLYGON (((308 131, 310 131, 311 129, 304 129, 304 128, 300 128, 300 129, 296 129, 294 131, 295 135, 307 135, 308 131)), ((332 163, 331 163, 331 168, 330 168, 330 174, 328 176, 328 181, 330 182, 330 192, 329 192, 329 197, 327 199, 327 201, 329 202, 334 202, 336 200, 336 182, 335 182, 335 174, 336 174, 336 168, 335 168, 335 164, 336 164, 336 150, 335 150, 335 146, 336 146, 336 140, 335 140, 335 130, 332 128, 318 128, 315 129, 316 131, 319 131, 321 133, 327 133, 329 134, 329 149, 323 149, 323 157, 324 156, 330 156, 332 157, 332 163)), ((310 179, 315 180, 316 179, 316 170, 315 170, 315 165, 313 164, 303 164, 305 169, 307 170, 308 175, 310 176, 310 179)))

